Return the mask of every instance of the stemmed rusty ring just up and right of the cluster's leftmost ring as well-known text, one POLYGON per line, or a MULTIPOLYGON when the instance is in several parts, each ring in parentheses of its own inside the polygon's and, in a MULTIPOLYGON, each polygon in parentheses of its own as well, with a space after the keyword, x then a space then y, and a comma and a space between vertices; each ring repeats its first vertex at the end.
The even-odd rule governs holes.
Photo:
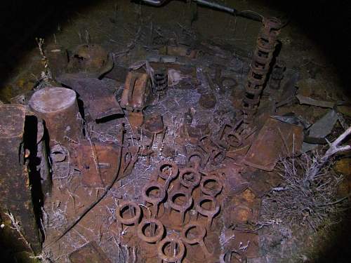
POLYGON ((166 198, 166 190, 159 182, 149 182, 143 187, 143 200, 152 204, 152 216, 159 214, 159 205, 166 198))

